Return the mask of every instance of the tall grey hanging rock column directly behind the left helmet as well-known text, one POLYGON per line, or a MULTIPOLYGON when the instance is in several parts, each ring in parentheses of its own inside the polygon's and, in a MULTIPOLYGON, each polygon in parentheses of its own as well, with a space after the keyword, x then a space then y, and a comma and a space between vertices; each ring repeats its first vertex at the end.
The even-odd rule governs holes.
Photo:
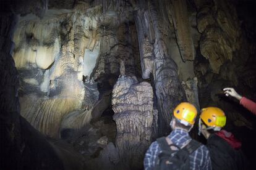
POLYGON ((135 21, 142 69, 145 69, 142 73, 145 78, 150 73, 153 75, 159 108, 159 131, 160 134, 167 134, 170 131, 172 109, 182 100, 186 100, 186 97, 178 79, 177 65, 167 51, 164 41, 165 30, 162 26, 163 21, 157 15, 160 10, 156 8, 157 6, 157 3, 151 1, 143 4, 136 13, 135 21), (144 23, 145 25, 142 26, 144 23), (151 42, 150 44, 147 39, 151 42))

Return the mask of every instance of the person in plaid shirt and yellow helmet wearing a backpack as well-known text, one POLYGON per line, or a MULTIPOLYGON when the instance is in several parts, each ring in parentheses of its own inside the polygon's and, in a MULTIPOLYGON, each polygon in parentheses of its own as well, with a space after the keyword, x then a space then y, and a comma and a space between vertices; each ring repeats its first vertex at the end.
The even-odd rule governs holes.
MULTIPOLYGON (((148 148, 145 158, 144 158, 144 168, 145 169, 211 169, 211 161, 207 147, 205 145, 192 140, 189 136, 189 131, 192 129, 197 118, 197 109, 194 105, 182 102, 173 111, 173 118, 171 119, 171 133, 167 137, 161 137, 156 139, 150 147, 148 148), (194 142, 194 143, 193 143, 194 142), (163 144, 165 143, 165 144, 163 144), (197 146, 191 147, 193 144, 197 146), (163 145, 165 147, 163 147, 163 145), (175 146, 175 147, 174 147, 175 146), (186 148, 190 146, 190 152, 186 148), (165 149, 164 149, 165 148, 165 149), (183 149, 184 148, 184 149, 183 149), (192 149, 193 148, 193 149, 192 149), (178 150, 179 149, 179 150, 178 150), (186 161, 177 161, 179 158, 176 158, 176 163, 179 162, 177 166, 170 163, 175 155, 179 155, 180 150, 186 150, 186 161), (164 161, 165 168, 160 168, 160 155, 163 153, 171 152, 169 154, 171 158, 168 158, 168 161, 164 161), (173 157, 172 157, 173 156, 173 157), (166 164, 169 164, 166 165, 166 164), (182 164, 188 164, 185 168, 182 164), (166 166, 168 168, 166 168, 166 166), (181 168, 181 166, 183 166, 181 168), (173 168, 176 167, 176 168, 173 168), (177 168, 178 167, 178 168, 177 168)), ((181 157, 181 156, 179 156, 181 157)))

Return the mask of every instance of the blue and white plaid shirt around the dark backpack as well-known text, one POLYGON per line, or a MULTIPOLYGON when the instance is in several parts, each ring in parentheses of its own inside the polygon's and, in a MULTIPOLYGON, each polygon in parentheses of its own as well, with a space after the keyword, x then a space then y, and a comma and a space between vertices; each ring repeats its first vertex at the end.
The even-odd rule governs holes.
MULTIPOLYGON (((174 131, 169 134, 169 139, 179 147, 186 144, 188 140, 191 139, 189 133, 182 129, 174 129, 174 131)), ((158 145, 158 142, 153 142, 148 148, 147 153, 144 158, 144 168, 146 170, 154 169, 156 156, 161 152, 161 148, 158 145)), ((201 145, 195 150, 190 158, 190 169, 211 169, 211 161, 209 156, 209 151, 205 145, 201 145)))

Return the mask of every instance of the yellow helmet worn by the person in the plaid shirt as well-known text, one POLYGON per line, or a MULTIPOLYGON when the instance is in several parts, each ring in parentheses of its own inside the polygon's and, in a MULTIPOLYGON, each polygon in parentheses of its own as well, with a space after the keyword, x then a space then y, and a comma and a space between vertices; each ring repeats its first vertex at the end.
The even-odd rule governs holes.
POLYGON ((191 103, 182 102, 174 109, 173 115, 175 118, 179 119, 182 124, 186 126, 189 124, 192 125, 197 118, 197 108, 191 103))

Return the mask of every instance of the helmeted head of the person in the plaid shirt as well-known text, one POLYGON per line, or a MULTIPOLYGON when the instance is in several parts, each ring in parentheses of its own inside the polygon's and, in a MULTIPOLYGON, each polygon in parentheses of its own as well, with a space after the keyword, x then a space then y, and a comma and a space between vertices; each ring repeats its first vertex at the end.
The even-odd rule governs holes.
POLYGON ((170 125, 173 130, 179 128, 189 132, 194 126, 196 118, 197 108, 191 103, 182 102, 174 109, 170 125))

